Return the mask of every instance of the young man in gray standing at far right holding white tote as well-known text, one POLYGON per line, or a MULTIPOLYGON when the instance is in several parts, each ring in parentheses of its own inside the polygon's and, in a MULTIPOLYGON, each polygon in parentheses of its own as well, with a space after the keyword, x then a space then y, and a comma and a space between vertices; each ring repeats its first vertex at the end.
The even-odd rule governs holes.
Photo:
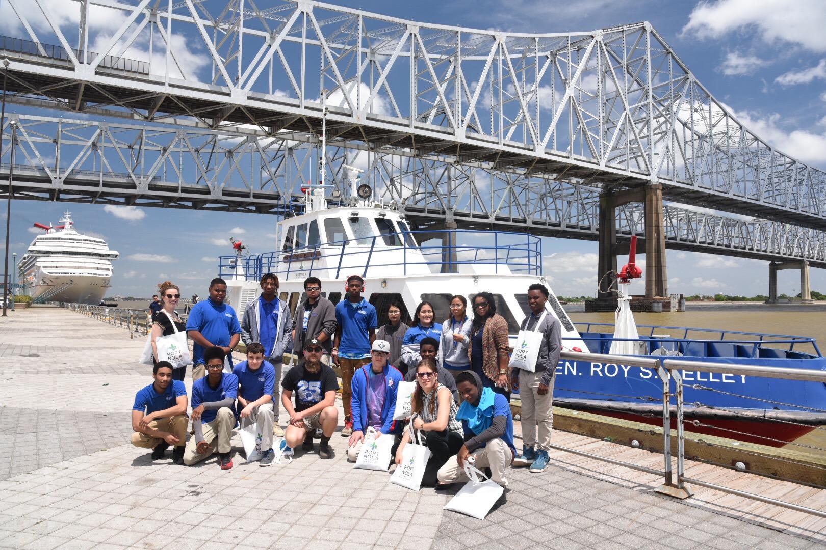
POLYGON ((553 378, 562 352, 559 322, 545 309, 546 302, 548 289, 544 284, 531 284, 528 287, 531 313, 522 321, 520 331, 542 334, 539 355, 534 372, 514 369, 510 379, 510 385, 520 391, 522 398, 522 454, 515 458, 514 465, 530 466, 533 473, 548 468, 553 426, 553 378))

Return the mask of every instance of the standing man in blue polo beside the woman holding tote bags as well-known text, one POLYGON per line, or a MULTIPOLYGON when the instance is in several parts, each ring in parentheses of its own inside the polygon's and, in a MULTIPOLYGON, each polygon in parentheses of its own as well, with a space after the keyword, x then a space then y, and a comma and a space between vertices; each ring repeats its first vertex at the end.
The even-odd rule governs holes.
POLYGON ((226 281, 216 277, 209 284, 209 299, 192 306, 187 319, 187 333, 192 339, 192 382, 207 374, 203 359, 204 350, 218 346, 230 360, 232 350, 241 339, 241 326, 235 309, 226 298, 226 281))

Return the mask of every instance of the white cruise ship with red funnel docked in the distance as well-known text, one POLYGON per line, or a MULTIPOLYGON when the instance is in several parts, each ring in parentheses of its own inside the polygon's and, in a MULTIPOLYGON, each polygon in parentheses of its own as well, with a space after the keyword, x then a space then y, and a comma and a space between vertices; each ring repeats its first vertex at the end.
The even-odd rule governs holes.
POLYGON ((118 256, 106 241, 74 230, 64 212, 56 227, 35 223, 45 231, 29 245, 20 261, 23 292, 34 303, 74 302, 97 305, 110 288, 112 260, 118 256))

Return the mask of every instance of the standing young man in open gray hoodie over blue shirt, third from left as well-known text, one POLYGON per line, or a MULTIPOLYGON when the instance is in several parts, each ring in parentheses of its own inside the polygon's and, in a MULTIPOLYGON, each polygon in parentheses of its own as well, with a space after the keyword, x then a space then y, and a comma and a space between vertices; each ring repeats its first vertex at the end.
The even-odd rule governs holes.
MULTIPOLYGON (((275 368, 275 393, 273 403, 278 403, 281 388, 281 370, 284 350, 292 344, 292 318, 287 302, 276 297, 278 275, 261 277, 261 295, 247 305, 241 321, 241 341, 244 345, 261 342, 264 357, 275 368)), ((273 435, 283 437, 284 430, 278 425, 278 407, 273 411, 273 435)))

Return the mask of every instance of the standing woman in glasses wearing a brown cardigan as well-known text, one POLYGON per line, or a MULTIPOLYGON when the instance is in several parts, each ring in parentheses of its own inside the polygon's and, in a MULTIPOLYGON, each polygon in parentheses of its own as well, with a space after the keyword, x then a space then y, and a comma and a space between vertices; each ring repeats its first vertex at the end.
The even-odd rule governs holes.
POLYGON ((508 322, 496 313, 493 294, 473 297, 473 322, 468 360, 471 370, 482 378, 485 388, 501 393, 510 402, 510 361, 508 322))

